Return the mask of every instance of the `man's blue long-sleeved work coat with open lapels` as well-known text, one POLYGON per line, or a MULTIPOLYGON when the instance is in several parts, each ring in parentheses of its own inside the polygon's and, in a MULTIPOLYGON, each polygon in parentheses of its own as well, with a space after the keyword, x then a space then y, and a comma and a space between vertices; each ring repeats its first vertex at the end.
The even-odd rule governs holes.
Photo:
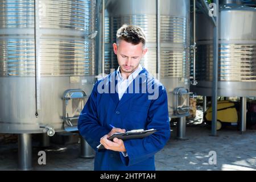
POLYGON ((115 71, 96 81, 79 117, 80 134, 96 151, 94 170, 155 170, 154 155, 164 147, 170 137, 166 89, 143 68, 137 76, 140 77, 139 93, 138 88, 135 87, 136 77, 119 101, 118 93, 115 90, 113 92, 113 87, 115 89, 117 85, 116 75, 115 71), (152 96, 152 92, 148 92, 149 89, 145 92, 145 88, 148 87, 145 85, 158 89, 156 99, 148 99, 152 96), (105 91, 102 92, 102 89, 105 91), (128 155, 125 157, 122 152, 97 151, 101 137, 112 130, 110 125, 126 131, 135 129, 158 131, 143 139, 125 140, 128 155))

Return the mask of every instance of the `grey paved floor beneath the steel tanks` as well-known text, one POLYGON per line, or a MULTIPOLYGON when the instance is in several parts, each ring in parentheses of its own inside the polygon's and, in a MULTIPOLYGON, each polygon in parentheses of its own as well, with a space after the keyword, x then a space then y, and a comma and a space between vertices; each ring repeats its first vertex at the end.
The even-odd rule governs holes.
MULTIPOLYGON (((205 126, 187 127, 187 140, 175 139, 176 127, 164 149, 155 156, 156 170, 255 170, 256 130, 240 134, 236 127, 210 137, 205 126), (209 152, 217 154, 217 164, 209 164, 209 152)), ((34 170, 93 170, 93 159, 79 158, 79 144, 33 147, 34 170), (38 151, 46 151, 46 165, 38 164, 38 151)), ((211 155, 212 156, 212 155, 211 155)), ((16 170, 18 144, 0 144, 0 170, 16 170)))

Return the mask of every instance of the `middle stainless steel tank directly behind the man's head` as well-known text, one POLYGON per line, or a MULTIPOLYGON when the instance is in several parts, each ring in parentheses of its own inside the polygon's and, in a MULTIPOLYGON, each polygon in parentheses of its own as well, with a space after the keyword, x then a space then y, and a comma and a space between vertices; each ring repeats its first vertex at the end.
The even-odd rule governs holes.
POLYGON ((153 75, 158 73, 160 66, 159 79, 168 91, 170 115, 177 117, 179 114, 188 112, 190 2, 187 0, 162 0, 159 2, 160 63, 157 61, 156 49, 157 1, 110 0, 106 3, 104 70, 105 73, 109 73, 110 69, 118 67, 117 58, 112 48, 112 44, 116 42, 115 34, 118 28, 123 24, 142 27, 147 38, 148 52, 141 64, 153 75), (179 98, 176 99, 176 96, 179 98), (177 102, 179 106, 176 105, 177 102))

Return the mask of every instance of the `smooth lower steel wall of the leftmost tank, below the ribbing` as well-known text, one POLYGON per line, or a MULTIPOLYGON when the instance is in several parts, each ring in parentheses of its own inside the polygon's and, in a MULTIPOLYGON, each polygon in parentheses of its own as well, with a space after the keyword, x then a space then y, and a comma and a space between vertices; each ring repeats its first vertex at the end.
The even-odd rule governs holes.
POLYGON ((89 96, 95 78, 80 77, 71 83, 69 76, 42 77, 41 109, 35 117, 35 78, 0 77, 0 133, 42 133, 40 125, 64 129, 63 94, 65 90, 82 89, 89 96))

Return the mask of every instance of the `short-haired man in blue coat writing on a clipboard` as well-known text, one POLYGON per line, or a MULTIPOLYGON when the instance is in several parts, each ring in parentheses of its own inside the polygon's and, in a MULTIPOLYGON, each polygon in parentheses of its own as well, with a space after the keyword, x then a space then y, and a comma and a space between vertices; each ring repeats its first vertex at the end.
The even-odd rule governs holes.
POLYGON ((123 25, 113 44, 119 67, 98 80, 79 118, 82 137, 96 150, 94 170, 155 170, 154 155, 170 137, 167 93, 139 64, 147 52, 137 26, 123 25), (153 91, 153 92, 152 92, 153 91), (108 138, 135 129, 156 129, 143 139, 108 138), (105 151, 97 151, 98 144, 105 151))

